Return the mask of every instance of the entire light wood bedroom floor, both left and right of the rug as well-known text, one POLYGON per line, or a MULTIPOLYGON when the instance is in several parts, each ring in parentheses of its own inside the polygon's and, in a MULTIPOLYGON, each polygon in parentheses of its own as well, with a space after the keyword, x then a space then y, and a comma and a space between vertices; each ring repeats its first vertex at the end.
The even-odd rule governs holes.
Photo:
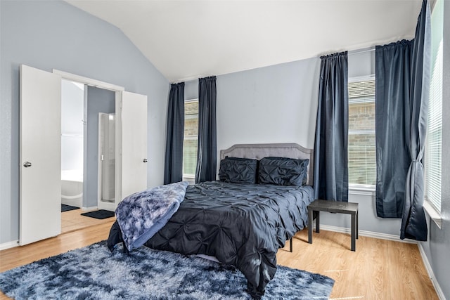
MULTIPOLYGON (((113 219, 41 242, 0 251, 0 272, 70 249, 105 240, 113 219)), ((307 230, 277 254, 278 264, 321 273, 335 280, 330 299, 438 299, 416 244, 359 237, 356 252, 348 234, 321 230, 307 242, 307 230)), ((8 299, 0 292, 0 299, 8 299)))

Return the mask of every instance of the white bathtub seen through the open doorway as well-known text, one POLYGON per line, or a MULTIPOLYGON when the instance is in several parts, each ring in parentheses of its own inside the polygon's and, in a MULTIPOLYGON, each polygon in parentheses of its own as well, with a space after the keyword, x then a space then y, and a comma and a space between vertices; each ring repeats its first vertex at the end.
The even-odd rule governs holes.
POLYGON ((83 170, 61 171, 61 203, 82 207, 83 170))

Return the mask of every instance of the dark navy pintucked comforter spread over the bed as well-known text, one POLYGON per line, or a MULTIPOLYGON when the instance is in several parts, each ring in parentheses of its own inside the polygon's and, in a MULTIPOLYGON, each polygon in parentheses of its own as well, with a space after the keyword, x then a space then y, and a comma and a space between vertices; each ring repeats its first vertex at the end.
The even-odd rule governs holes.
POLYGON ((309 185, 211 181, 189 185, 184 201, 147 247, 215 256, 236 266, 259 299, 276 272, 276 252, 307 226, 309 185))

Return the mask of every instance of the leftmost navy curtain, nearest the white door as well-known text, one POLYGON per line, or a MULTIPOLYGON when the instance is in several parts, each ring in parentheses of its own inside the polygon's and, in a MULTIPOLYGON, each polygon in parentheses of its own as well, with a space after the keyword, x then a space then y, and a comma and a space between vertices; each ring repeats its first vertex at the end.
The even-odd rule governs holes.
POLYGON ((164 184, 183 180, 184 82, 170 85, 164 184))

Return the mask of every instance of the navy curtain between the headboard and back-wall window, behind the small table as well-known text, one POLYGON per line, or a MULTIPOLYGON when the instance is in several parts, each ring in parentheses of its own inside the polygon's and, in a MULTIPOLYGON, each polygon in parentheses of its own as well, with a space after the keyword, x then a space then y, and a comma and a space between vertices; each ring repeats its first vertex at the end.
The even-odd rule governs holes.
POLYGON ((316 199, 348 202, 347 51, 321 57, 314 146, 316 199))

